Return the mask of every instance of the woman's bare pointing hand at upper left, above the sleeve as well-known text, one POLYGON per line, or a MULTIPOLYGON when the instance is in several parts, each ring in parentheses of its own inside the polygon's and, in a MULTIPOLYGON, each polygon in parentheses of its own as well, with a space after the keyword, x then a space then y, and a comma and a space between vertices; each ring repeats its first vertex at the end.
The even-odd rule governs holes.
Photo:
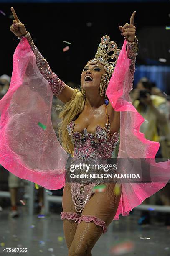
POLYGON ((15 36, 18 36, 18 37, 25 36, 27 31, 26 31, 24 24, 21 23, 20 20, 18 19, 14 8, 11 7, 10 9, 11 9, 11 11, 13 13, 13 17, 14 17, 13 24, 12 24, 12 26, 10 26, 10 31, 13 32, 15 36))

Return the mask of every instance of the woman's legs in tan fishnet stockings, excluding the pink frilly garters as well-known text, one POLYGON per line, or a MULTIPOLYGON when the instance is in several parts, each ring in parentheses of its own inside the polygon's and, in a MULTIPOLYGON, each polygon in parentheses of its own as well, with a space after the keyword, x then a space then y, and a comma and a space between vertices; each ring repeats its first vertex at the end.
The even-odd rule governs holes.
MULTIPOLYGON (((104 184, 104 183, 103 183, 104 184)), ((120 195, 114 195, 114 183, 105 184, 106 190, 94 193, 89 202, 85 205, 81 216, 96 216, 103 220, 108 226, 117 212, 120 195)), ((63 196, 63 212, 76 212, 71 198, 70 185, 65 185, 63 196)), ((91 250, 99 239, 103 230, 94 222, 77 222, 64 220, 64 233, 69 248, 69 256, 91 256, 91 250)))

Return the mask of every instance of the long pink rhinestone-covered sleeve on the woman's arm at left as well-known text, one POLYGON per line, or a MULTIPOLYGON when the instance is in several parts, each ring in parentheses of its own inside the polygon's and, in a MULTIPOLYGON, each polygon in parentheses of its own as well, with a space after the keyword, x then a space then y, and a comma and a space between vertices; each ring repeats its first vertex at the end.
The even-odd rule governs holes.
POLYGON ((57 96, 66 87, 66 84, 61 81, 58 76, 50 69, 48 62, 46 59, 44 59, 38 48, 35 46, 30 33, 27 32, 25 36, 18 37, 18 39, 22 40, 23 37, 26 37, 28 40, 30 48, 36 57, 36 64, 40 70, 40 73, 49 82, 53 94, 57 96))

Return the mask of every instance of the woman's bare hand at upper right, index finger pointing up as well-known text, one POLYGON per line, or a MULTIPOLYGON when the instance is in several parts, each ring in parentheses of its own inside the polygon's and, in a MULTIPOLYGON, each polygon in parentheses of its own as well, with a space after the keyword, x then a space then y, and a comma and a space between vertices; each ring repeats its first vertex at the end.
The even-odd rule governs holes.
POLYGON ((122 36, 125 36, 129 42, 133 42, 136 34, 136 27, 134 26, 134 15, 136 11, 132 13, 130 18, 130 24, 126 23, 123 27, 119 26, 122 36))

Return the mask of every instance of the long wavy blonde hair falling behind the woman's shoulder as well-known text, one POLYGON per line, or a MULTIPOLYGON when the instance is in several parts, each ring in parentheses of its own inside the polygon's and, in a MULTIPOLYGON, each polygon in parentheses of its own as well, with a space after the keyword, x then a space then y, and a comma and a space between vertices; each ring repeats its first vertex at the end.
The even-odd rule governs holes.
POLYGON ((67 102, 63 108, 60 105, 56 105, 56 110, 60 110, 59 118, 61 122, 58 124, 58 138, 62 147, 73 157, 74 146, 71 141, 71 136, 67 132, 67 125, 75 120, 76 116, 84 109, 85 97, 81 96, 81 92, 78 89, 74 89, 74 93, 71 100, 67 102))

